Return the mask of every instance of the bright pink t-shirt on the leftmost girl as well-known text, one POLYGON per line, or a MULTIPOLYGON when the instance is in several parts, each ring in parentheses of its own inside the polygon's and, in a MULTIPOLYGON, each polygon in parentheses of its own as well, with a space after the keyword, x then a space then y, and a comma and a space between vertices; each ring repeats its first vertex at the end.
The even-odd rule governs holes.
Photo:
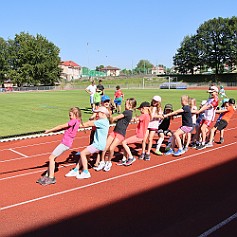
POLYGON ((68 128, 65 130, 63 139, 62 139, 62 144, 65 146, 71 147, 72 142, 77 134, 78 128, 80 126, 81 121, 78 119, 71 119, 68 122, 68 128))

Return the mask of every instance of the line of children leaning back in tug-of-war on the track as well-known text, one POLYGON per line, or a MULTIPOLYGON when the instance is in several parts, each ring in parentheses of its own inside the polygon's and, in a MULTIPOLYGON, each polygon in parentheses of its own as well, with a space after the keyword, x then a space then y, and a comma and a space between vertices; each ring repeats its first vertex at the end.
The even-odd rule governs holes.
POLYGON ((123 158, 117 165, 129 166, 136 161, 129 146, 134 143, 141 143, 142 146, 142 152, 138 158, 149 161, 155 135, 158 136, 158 140, 154 153, 159 156, 163 155, 160 148, 165 137, 168 137, 168 145, 165 148, 164 155, 180 156, 188 150, 189 146, 198 150, 211 147, 217 130, 220 131, 220 142, 222 143, 224 141, 224 128, 228 125, 236 109, 235 100, 233 98, 226 100, 223 104, 224 107, 217 110, 218 88, 211 86, 208 93, 210 97, 207 101, 202 101, 199 109, 197 109, 195 99, 183 95, 181 97, 181 108, 175 111, 173 111, 171 104, 166 104, 163 110, 161 97, 158 95, 152 98, 151 103, 144 101, 137 108, 136 99, 129 98, 125 101, 125 110, 117 116, 112 116, 110 98, 103 95, 100 106, 93 111, 93 115, 85 123, 82 122, 80 109, 78 107, 71 108, 68 123, 45 131, 45 133, 49 133, 61 129, 65 130, 61 143, 49 157, 48 171, 37 180, 37 183, 44 186, 56 183, 54 176, 55 159, 64 151, 70 149, 79 127, 92 127, 90 144, 77 153, 79 160, 76 167, 65 175, 78 179, 91 177, 88 170, 88 158, 94 153, 97 156, 93 168, 96 171, 109 171, 118 145, 122 145, 123 158), (134 109, 140 111, 140 116, 133 117, 134 109), (220 116, 211 128, 209 141, 206 142, 215 113, 220 113, 220 116), (181 116, 181 126, 172 132, 169 126, 171 120, 177 115, 181 116), (134 135, 126 137, 127 128, 131 122, 137 123, 136 132, 134 135), (112 123, 115 123, 115 127, 109 133, 109 127, 112 123), (176 147, 177 150, 175 151, 176 147))

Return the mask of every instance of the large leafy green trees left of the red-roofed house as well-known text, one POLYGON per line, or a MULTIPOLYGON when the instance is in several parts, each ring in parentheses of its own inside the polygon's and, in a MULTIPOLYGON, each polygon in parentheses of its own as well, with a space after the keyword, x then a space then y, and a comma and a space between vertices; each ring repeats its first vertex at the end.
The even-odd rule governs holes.
POLYGON ((11 79, 17 86, 54 85, 59 81, 59 48, 43 36, 20 33, 15 38, 0 37, 0 83, 11 79))

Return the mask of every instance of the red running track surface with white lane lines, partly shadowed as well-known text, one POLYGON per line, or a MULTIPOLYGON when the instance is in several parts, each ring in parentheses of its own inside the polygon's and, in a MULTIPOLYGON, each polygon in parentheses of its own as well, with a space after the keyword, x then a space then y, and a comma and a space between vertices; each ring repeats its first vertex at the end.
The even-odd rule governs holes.
POLYGON ((64 177, 70 153, 89 143, 89 132, 79 132, 57 159, 57 183, 45 187, 35 181, 62 135, 1 143, 0 236, 237 236, 236 121, 235 113, 224 144, 130 167, 116 166, 117 153, 110 172, 91 169, 88 180, 64 177))

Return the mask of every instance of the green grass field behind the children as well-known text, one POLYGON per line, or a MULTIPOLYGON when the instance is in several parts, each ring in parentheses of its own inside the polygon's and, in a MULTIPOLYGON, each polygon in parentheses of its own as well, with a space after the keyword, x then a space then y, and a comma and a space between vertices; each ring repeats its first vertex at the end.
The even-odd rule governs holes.
MULTIPOLYGON (((174 109, 181 107, 182 95, 196 98, 197 105, 208 97, 205 90, 126 89, 123 92, 125 99, 134 97, 138 105, 142 101, 150 102, 154 95, 159 95, 162 106, 171 103, 174 109)), ((111 98, 113 93, 114 89, 105 91, 111 98)), ((234 90, 228 90, 227 95, 237 99, 234 90)), ((81 108, 83 121, 87 121, 91 115, 88 110, 89 95, 84 90, 0 93, 0 100, 0 137, 33 133, 66 123, 68 110, 73 106, 81 108)), ((139 114, 138 111, 136 113, 139 114)))

